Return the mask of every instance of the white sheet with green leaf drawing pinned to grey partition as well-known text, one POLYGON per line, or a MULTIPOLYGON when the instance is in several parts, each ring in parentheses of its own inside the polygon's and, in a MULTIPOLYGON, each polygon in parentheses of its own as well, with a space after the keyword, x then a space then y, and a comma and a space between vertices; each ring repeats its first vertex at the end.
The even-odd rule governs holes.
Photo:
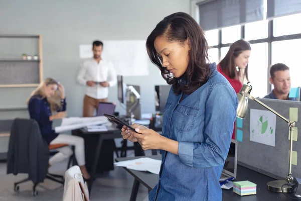
POLYGON ((276 115, 265 110, 250 110, 250 141, 275 146, 276 115))

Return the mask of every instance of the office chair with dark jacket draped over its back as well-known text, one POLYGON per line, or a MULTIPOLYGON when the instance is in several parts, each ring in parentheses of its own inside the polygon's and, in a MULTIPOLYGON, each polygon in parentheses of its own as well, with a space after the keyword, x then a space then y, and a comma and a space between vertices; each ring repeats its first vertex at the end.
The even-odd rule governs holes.
MULTIPOLYGON (((35 120, 15 119, 11 128, 8 150, 7 173, 28 173, 26 179, 14 183, 15 192, 19 192, 19 184, 32 180, 32 194, 36 196, 36 186, 45 178, 64 184, 63 175, 48 173, 49 150, 68 146, 68 144, 48 145, 42 138, 40 128, 35 120)), ((71 160, 68 162, 70 166, 71 160)), ((68 168, 67 167, 67 168, 68 168)))

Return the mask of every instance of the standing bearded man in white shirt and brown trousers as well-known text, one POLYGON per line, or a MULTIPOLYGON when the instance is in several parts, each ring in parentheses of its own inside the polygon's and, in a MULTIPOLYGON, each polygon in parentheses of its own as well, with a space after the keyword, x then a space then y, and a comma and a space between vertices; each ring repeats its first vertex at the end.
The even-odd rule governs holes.
POLYGON ((101 58, 103 43, 93 42, 93 58, 85 61, 78 73, 77 81, 86 85, 83 117, 92 117, 99 102, 107 102, 108 87, 117 83, 117 75, 112 63, 101 58))

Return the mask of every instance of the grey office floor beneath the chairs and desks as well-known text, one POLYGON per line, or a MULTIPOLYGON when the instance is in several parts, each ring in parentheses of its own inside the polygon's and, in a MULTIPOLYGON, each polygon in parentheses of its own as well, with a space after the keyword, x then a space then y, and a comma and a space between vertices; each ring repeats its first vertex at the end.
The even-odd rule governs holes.
MULTIPOLYGON (((145 155, 151 155, 146 152, 145 155)), ((128 156, 133 156, 132 152, 128 152, 128 156)), ((67 161, 55 164, 49 169, 51 173, 63 174, 66 170, 67 161)), ((39 194, 32 196, 32 182, 20 184, 20 192, 14 192, 14 182, 26 178, 26 174, 6 174, 6 163, 0 163, 0 201, 17 201, 17 200, 62 200, 63 185, 45 179, 44 183, 37 186, 39 194)), ((107 175, 98 178, 93 183, 90 194, 90 200, 129 200, 133 177, 127 173, 122 167, 115 167, 107 175)), ((147 196, 147 188, 140 185, 137 201, 143 200, 147 196)))

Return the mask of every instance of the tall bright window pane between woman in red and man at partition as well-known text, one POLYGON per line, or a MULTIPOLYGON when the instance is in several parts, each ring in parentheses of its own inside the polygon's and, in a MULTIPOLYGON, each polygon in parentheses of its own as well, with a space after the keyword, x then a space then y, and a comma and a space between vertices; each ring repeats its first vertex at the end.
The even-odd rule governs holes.
POLYGON ((254 97, 263 97, 267 94, 268 63, 267 43, 251 44, 251 55, 248 64, 248 77, 253 89, 254 97))

